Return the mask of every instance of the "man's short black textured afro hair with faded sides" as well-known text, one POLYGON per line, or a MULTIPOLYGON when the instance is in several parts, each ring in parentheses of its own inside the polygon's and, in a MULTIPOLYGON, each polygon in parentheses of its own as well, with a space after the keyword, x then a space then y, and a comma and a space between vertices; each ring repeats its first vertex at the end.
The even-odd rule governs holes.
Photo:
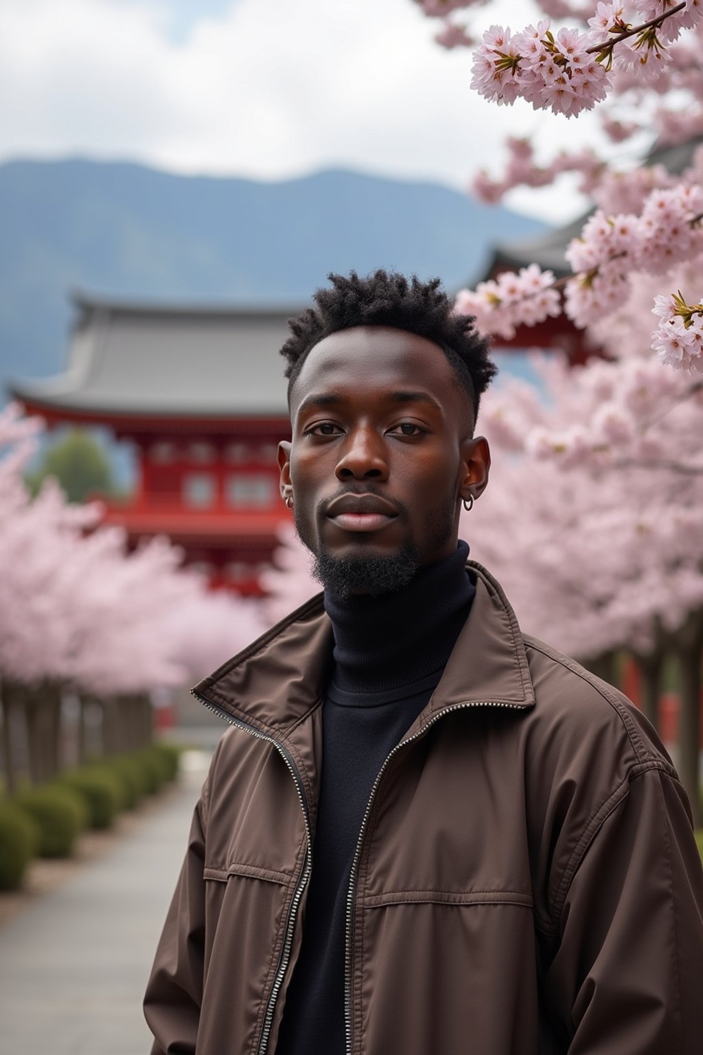
POLYGON ((473 328, 473 316, 454 312, 454 306, 440 279, 421 282, 379 269, 359 279, 328 275, 331 289, 318 289, 316 308, 307 308, 289 320, 292 335, 280 349, 288 360, 288 395, 308 352, 324 338, 352 326, 391 326, 427 338, 440 345, 471 400, 473 420, 479 403, 497 367, 491 362, 489 342, 473 328))

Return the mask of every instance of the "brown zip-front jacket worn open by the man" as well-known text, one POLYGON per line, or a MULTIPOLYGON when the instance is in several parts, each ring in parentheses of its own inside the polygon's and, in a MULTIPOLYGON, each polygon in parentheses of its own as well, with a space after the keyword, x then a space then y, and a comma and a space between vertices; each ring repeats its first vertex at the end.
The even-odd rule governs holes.
MULTIPOLYGON (((670 761, 620 693, 524 637, 469 567, 467 625, 362 828, 348 1051, 700 1055, 703 871, 670 761)), ((318 597, 196 687, 233 728, 147 991, 153 1055, 275 1052, 330 651, 318 597)))

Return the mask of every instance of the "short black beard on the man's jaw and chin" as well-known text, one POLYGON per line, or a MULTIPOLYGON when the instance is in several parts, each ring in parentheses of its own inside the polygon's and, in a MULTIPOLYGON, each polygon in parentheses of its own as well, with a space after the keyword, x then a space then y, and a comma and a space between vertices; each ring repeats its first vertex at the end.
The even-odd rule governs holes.
MULTIPOLYGON (((370 486, 366 491, 373 494, 370 486)), ((320 503, 316 511, 318 518, 325 515, 327 504, 320 503)), ((395 504, 398 513, 407 517, 407 507, 397 502, 395 504)), ((428 512, 425 524, 427 540, 422 551, 414 538, 409 537, 395 553, 385 556, 362 554, 358 557, 336 557, 323 542, 315 544, 311 517, 295 509, 294 518, 296 534, 312 555, 310 571, 313 578, 333 597, 345 599, 355 594, 377 597, 408 586, 427 557, 452 537, 455 510, 454 499, 451 498, 444 507, 428 512)))

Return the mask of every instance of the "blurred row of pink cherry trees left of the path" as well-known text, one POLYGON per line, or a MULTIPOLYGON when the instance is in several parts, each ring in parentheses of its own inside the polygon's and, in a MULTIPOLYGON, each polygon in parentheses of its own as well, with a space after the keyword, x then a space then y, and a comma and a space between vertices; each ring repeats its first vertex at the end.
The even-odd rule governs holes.
POLYGON ((103 746, 149 731, 149 694, 192 683, 263 629, 258 608, 214 594, 164 538, 128 551, 101 507, 70 504, 53 479, 32 499, 22 472, 41 428, 0 414, 0 677, 5 776, 23 721, 35 779, 59 765, 61 695, 98 706, 103 746))

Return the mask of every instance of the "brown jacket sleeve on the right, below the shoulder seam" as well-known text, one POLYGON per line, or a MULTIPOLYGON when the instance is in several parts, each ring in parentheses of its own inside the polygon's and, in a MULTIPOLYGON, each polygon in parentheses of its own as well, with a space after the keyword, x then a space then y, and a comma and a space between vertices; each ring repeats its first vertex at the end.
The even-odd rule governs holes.
POLYGON ((575 845, 545 999, 569 1055, 700 1055, 703 869, 679 782, 630 775, 575 845))

